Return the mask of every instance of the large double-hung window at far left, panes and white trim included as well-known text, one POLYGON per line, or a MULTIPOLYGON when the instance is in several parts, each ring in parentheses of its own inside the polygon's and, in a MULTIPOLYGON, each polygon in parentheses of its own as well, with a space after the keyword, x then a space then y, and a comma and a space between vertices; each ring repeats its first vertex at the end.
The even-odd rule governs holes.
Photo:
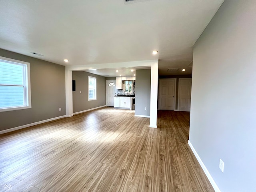
POLYGON ((0 112, 31 108, 30 64, 0 57, 0 112))

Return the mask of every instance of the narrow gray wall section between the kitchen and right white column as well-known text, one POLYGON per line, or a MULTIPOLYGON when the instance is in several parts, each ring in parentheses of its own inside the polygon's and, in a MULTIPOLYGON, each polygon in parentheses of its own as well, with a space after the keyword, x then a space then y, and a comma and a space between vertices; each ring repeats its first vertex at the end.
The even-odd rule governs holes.
POLYGON ((135 115, 150 116, 150 86, 151 69, 136 70, 135 115))

